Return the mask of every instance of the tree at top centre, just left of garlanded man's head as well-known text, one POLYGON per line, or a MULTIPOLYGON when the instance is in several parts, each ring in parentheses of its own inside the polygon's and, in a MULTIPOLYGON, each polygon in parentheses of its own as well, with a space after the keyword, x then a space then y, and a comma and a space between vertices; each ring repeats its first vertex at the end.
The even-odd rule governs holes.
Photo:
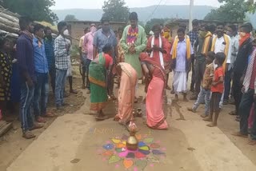
POLYGON ((128 22, 130 12, 124 0, 107 0, 102 10, 112 22, 128 22))

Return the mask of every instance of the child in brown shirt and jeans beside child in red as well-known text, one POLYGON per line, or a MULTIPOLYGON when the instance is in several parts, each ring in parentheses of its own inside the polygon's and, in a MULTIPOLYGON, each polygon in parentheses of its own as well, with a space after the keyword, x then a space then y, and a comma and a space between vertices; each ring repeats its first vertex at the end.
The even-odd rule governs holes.
POLYGON ((202 88, 200 90, 200 93, 198 94, 198 99, 194 103, 193 107, 188 108, 189 111, 195 113, 198 109, 198 106, 203 101, 205 101, 205 113, 202 114, 201 117, 207 117, 210 113, 210 88, 212 83, 212 77, 214 75, 214 58, 214 52, 208 52, 206 54, 206 70, 202 78, 202 88))

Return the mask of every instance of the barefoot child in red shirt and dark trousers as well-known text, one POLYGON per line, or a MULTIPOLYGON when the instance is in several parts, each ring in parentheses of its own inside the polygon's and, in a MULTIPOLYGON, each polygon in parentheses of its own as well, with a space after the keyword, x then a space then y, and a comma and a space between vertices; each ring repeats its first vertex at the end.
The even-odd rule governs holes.
POLYGON ((220 112, 219 102, 222 99, 222 93, 224 90, 224 70, 222 65, 225 58, 226 56, 224 53, 217 53, 215 55, 214 63, 217 65, 217 68, 214 71, 213 83, 210 89, 212 93, 210 97, 210 115, 204 119, 204 121, 211 121, 211 123, 207 125, 209 127, 214 127, 217 125, 218 114, 220 112))

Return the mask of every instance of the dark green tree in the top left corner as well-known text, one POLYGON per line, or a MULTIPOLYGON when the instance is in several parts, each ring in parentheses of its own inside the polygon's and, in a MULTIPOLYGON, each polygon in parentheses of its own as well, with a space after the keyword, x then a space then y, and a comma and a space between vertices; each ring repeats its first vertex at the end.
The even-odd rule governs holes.
POLYGON ((55 4, 54 0, 2 0, 1 4, 14 13, 28 16, 38 22, 58 21, 57 15, 50 10, 50 6, 55 4))

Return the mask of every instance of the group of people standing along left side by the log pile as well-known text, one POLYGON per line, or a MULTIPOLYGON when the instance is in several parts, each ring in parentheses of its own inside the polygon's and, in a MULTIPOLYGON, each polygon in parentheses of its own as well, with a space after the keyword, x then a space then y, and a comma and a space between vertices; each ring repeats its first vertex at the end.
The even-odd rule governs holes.
POLYGON ((0 109, 8 116, 10 108, 19 104, 19 121, 22 137, 35 137, 31 132, 40 129, 44 117, 56 117, 47 111, 49 80, 55 96, 57 109, 62 109, 66 78, 70 81, 70 93, 77 93, 72 86, 70 40, 66 22, 58 23, 59 35, 52 36, 50 27, 34 23, 30 18, 19 18, 18 39, 0 39, 0 109), (50 77, 50 78, 49 78, 50 77))

